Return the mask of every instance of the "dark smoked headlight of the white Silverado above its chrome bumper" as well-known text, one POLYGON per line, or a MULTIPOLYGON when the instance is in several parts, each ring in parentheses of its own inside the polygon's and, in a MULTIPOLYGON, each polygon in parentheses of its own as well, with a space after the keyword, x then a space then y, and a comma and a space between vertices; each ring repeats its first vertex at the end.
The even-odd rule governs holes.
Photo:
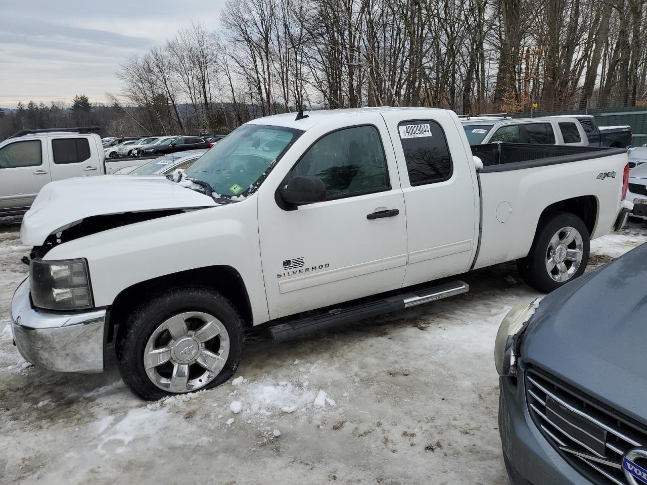
POLYGON ((35 307, 47 310, 92 308, 90 277, 85 259, 32 259, 29 288, 35 307))

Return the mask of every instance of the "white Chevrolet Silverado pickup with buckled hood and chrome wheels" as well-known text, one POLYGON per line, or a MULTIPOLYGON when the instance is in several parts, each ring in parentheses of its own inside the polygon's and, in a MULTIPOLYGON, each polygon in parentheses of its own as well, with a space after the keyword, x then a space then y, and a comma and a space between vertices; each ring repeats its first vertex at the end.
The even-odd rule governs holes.
POLYGON ((124 382, 157 399, 226 382, 259 325, 282 340, 393 312, 503 261, 553 290, 626 221, 624 149, 472 149, 451 111, 300 112, 239 127, 184 177, 52 182, 21 227, 16 345, 101 372, 114 344, 124 382))

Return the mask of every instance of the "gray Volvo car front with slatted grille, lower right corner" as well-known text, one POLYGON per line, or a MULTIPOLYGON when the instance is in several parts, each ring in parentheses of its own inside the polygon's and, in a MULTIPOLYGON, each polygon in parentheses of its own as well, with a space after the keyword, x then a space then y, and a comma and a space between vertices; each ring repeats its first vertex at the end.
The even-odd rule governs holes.
POLYGON ((647 244, 501 323, 499 432, 513 485, 647 483, 647 244))

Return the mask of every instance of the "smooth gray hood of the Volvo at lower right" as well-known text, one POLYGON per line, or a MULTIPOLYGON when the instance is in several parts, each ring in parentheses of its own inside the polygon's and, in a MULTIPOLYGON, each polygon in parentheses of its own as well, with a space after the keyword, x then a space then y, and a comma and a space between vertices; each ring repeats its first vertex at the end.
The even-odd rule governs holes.
POLYGON ((647 244, 545 297, 520 354, 647 424, 647 244))

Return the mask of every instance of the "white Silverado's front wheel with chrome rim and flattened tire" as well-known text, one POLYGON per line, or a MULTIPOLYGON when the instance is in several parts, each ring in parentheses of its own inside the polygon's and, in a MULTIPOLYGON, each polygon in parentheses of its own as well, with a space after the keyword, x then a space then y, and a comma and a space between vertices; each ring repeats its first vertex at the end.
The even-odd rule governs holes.
POLYGON ((170 288, 129 314, 116 338, 122 379, 146 400, 210 389, 241 360, 243 319, 222 294, 170 288))

